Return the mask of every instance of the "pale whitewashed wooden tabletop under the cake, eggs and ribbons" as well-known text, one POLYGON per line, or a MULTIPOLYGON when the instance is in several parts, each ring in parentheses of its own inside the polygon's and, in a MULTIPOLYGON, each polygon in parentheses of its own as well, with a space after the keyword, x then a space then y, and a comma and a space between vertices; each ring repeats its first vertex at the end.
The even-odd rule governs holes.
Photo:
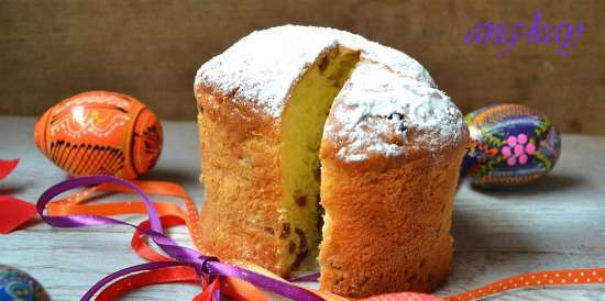
MULTIPOLYGON (((31 202, 66 178, 34 146, 33 124, 32 118, 0 116, 0 158, 21 158, 13 175, 0 182, 0 194, 31 202)), ((145 179, 178 181, 201 205, 197 127, 164 122, 164 131, 162 158, 145 179)), ((605 266, 605 136, 563 135, 562 145, 553 172, 531 187, 488 192, 461 186, 453 271, 438 294, 527 271, 605 266)), ((65 230, 35 223, 0 236, 0 264, 30 272, 55 301, 77 300, 103 276, 143 263, 130 249, 131 234, 120 226, 65 230)), ((184 227, 172 236, 188 244, 184 227)), ((156 286, 122 300, 190 300, 197 291, 187 285, 156 286)), ((605 301, 605 286, 522 290, 488 300, 605 301)))

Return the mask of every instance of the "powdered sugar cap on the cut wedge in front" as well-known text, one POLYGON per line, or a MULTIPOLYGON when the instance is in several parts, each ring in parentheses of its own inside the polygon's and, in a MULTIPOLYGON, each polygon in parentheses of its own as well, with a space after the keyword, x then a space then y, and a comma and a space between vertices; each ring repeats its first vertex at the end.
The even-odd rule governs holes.
POLYGON ((382 64, 361 62, 334 100, 324 135, 334 137, 337 157, 360 161, 419 149, 438 156, 465 138, 464 126, 443 92, 382 64))

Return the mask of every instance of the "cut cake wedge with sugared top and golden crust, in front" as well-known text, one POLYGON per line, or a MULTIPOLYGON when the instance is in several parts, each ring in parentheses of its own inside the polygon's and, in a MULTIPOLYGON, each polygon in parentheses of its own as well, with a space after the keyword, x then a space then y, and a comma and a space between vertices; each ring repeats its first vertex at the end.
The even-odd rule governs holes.
POLYGON ((355 67, 321 144, 321 289, 363 298, 443 282, 465 142, 443 92, 381 64, 355 67))

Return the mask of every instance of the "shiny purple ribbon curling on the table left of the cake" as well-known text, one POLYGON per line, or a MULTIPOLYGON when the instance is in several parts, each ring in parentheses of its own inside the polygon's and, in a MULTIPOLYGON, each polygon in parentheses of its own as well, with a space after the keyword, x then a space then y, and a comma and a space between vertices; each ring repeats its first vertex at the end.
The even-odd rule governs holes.
MULTIPOLYGON (((152 238, 152 241, 160 247, 166 255, 174 258, 176 261, 158 261, 158 263, 147 263, 133 267, 129 267, 119 271, 116 271, 103 279, 99 280, 95 286, 92 286, 80 299, 80 301, 90 300, 101 288, 110 283, 111 281, 127 276, 129 274, 139 272, 143 270, 154 270, 170 266, 190 266, 194 267, 198 276, 201 278, 207 275, 209 277, 235 277, 242 280, 245 280, 256 287, 263 288, 267 291, 276 293, 278 296, 300 300, 300 301, 319 301, 323 300, 321 297, 316 293, 308 291, 306 289, 289 285, 271 277, 246 270, 237 266, 231 266, 222 264, 217 257, 206 256, 198 250, 193 248, 179 246, 175 241, 164 234, 164 228, 162 227, 162 221, 160 215, 153 205, 152 200, 135 185, 111 176, 90 176, 81 177, 76 179, 66 180, 59 182, 51 188, 48 188, 40 199, 36 204, 37 213, 44 222, 50 225, 57 227, 81 227, 81 226, 97 226, 97 225, 128 225, 132 226, 142 233, 145 233, 152 238), (113 183, 121 185, 132 189, 145 203, 147 209, 147 214, 150 218, 151 227, 144 228, 138 225, 133 225, 127 222, 114 220, 106 216, 98 215, 82 215, 82 214, 73 214, 66 216, 47 216, 44 214, 44 209, 51 200, 68 190, 79 187, 88 187, 101 183, 113 183)), ((212 299, 216 301, 220 300, 220 291, 217 290, 212 296, 212 299)))

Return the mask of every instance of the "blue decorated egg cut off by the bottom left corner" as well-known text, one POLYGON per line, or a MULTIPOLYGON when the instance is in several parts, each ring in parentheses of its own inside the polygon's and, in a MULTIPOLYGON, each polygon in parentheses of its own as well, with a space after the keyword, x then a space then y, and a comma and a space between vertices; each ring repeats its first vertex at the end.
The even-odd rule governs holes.
POLYGON ((42 286, 30 275, 0 266, 0 301, 50 301, 42 286))

